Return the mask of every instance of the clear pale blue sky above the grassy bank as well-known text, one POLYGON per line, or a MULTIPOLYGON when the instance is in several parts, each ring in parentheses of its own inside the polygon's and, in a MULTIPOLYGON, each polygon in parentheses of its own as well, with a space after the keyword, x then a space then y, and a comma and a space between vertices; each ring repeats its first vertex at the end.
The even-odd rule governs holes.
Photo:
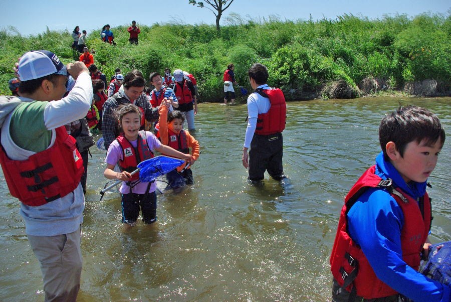
MULTIPOLYGON (((336 16, 352 14, 370 19, 382 18, 384 14, 407 14, 410 17, 424 12, 443 13, 451 9, 449 0, 350 0, 350 1, 289 1, 289 0, 235 0, 224 12, 237 13, 246 19, 249 15, 268 18, 269 15, 279 15, 282 20, 323 18, 335 19, 336 16)), ((188 0, 133 0, 133 1, 67 1, 55 2, 44 0, 1 0, 0 28, 15 27, 23 35, 36 35, 46 30, 72 31, 75 26, 80 29, 92 30, 105 24, 111 27, 131 24, 136 20, 139 24, 152 25, 155 22, 168 23, 179 21, 186 24, 215 24, 215 17, 206 8, 189 5, 188 0)))

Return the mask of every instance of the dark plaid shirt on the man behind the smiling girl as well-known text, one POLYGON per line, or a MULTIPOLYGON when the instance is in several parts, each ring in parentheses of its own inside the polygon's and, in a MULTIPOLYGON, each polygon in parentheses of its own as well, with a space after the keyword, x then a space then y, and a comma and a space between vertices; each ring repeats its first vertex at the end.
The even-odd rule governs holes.
MULTIPOLYGON (((106 102, 103 104, 103 117, 102 117, 102 134, 104 139, 105 148, 108 150, 108 147, 113 142, 113 140, 117 137, 116 130, 119 127, 119 124, 114 117, 114 110, 122 104, 130 104, 130 100, 125 96, 123 86, 119 89, 119 91, 115 94, 118 96, 116 100, 113 96, 109 97, 106 102)), ((153 108, 150 105, 150 102, 147 100, 146 94, 143 92, 134 102, 134 104, 138 107, 141 107, 144 110, 144 117, 147 121, 156 122, 158 121, 158 117, 160 114, 158 113, 158 107, 153 108)))

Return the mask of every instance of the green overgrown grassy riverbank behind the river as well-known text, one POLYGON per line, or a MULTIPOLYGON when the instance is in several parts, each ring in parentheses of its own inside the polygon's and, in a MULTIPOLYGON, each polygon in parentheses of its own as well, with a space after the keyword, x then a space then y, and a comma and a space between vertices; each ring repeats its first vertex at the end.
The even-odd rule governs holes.
MULTIPOLYGON (((344 15, 294 22, 230 14, 224 21, 220 37, 213 25, 138 25, 136 47, 129 45, 124 25, 112 28, 117 46, 103 43, 95 31, 88 33, 88 47, 107 77, 117 67, 124 72, 137 68, 146 76, 165 67, 189 71, 198 81, 202 101, 223 97, 222 74, 229 63, 236 66, 238 83, 249 86, 247 69, 254 62, 268 67, 270 84, 284 90, 287 99, 380 91, 451 95, 451 10, 412 18, 344 15)), ((78 60, 71 44, 67 32, 47 30, 25 37, 14 28, 1 30, 0 93, 10 94, 7 82, 21 54, 47 49, 68 63, 78 60)))

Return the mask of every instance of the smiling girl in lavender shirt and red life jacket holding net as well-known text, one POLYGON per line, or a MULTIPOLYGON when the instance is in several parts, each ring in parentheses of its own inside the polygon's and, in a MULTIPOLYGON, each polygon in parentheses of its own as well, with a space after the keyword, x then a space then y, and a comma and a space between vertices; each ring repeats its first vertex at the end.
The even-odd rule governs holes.
POLYGON ((152 149, 185 161, 193 158, 161 144, 151 132, 139 131, 142 118, 139 107, 133 104, 121 105, 115 110, 115 116, 123 134, 108 148, 105 159, 107 167, 103 175, 108 179, 122 180, 119 190, 122 193, 122 223, 124 230, 128 231, 138 219, 140 208, 144 223, 152 224, 157 219, 155 182, 142 183, 137 175, 131 176, 136 166, 153 158, 152 149), (119 164, 121 173, 113 171, 116 164, 119 164))

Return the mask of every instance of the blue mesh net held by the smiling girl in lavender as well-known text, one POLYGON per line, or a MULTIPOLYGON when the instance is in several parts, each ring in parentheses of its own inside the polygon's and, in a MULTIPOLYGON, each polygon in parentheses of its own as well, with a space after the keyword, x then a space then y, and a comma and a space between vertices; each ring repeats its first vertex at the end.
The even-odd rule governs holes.
POLYGON ((138 165, 139 180, 153 182, 158 176, 166 174, 181 166, 185 161, 166 156, 157 156, 138 165))

